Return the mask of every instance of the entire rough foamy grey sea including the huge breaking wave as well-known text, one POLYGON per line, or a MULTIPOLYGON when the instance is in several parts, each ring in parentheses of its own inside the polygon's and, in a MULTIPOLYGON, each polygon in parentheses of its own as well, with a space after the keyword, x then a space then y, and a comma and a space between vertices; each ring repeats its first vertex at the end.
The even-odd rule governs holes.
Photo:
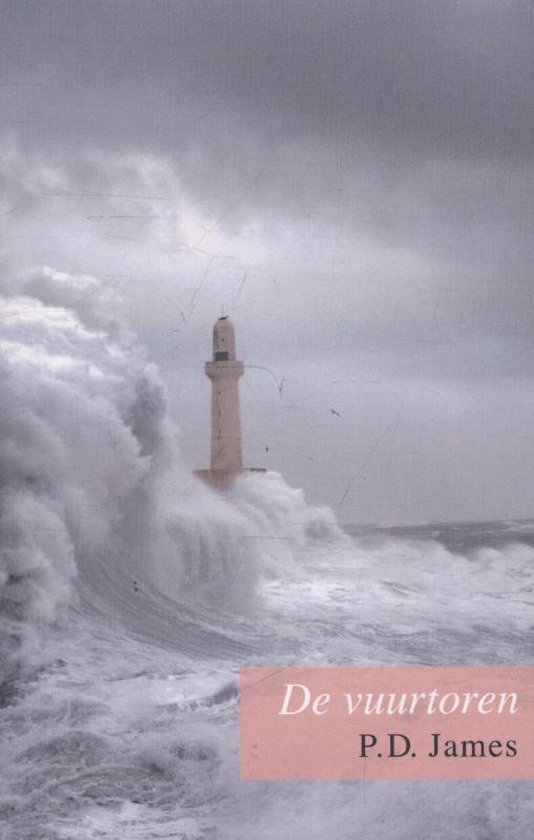
POLYGON ((532 524, 348 536, 277 473, 222 498, 95 279, 6 292, 6 837, 529 836, 530 782, 241 782, 237 670, 531 664, 532 524))

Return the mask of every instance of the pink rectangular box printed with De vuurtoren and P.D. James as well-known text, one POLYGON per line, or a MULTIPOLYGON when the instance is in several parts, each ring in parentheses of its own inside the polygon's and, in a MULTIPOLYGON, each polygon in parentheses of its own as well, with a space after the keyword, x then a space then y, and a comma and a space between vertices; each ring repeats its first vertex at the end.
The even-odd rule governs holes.
POLYGON ((240 680, 243 779, 534 778, 534 668, 244 668, 240 680))

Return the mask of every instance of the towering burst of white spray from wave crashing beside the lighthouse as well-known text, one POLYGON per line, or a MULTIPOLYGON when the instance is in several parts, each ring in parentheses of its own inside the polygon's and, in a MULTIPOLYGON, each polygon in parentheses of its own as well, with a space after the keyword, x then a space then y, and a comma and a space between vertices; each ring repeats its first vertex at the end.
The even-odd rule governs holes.
POLYGON ((152 590, 246 613, 261 571, 280 571, 311 534, 338 532, 276 474, 243 477, 226 500, 190 474, 157 368, 94 278, 46 268, 10 286, 0 300, 5 621, 35 627, 81 600, 127 624, 152 590))

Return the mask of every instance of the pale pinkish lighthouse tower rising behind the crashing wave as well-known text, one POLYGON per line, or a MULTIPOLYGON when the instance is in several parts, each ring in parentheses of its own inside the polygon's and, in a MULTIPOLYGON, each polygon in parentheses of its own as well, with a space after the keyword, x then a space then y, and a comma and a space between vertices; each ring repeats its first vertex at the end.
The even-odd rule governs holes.
MULTIPOLYGON (((234 326, 222 315, 213 327, 213 357, 204 366, 211 379, 211 463, 195 475, 216 490, 226 490, 244 472, 239 413, 239 380, 245 366, 236 359, 234 326)), ((263 473, 261 467, 246 472, 263 473)))

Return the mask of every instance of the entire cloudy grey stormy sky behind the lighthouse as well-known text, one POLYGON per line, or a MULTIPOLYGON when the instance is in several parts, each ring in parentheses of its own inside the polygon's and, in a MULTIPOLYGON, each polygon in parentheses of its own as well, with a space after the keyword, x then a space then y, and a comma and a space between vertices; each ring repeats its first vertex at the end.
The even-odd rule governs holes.
POLYGON ((1 278, 99 279, 209 458, 341 522, 534 512, 534 21, 502 0, 1 0, 1 278))

